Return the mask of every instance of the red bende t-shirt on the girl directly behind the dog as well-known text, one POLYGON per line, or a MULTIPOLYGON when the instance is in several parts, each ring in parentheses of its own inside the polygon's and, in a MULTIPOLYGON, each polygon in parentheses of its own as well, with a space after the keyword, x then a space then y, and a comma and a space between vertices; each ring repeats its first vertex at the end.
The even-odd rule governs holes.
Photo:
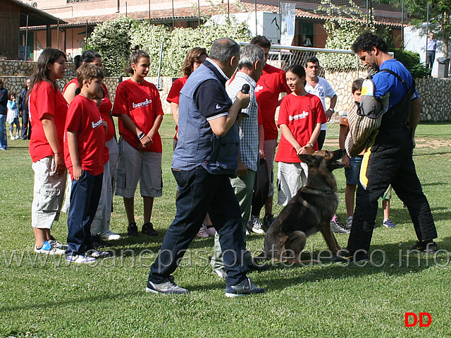
MULTIPOLYGON (((280 103, 277 125, 286 124, 299 145, 306 145, 314 131, 316 123, 327 121, 323 104, 319 97, 307 93, 304 96, 287 95, 280 103)), ((315 142, 314 150, 318 150, 315 142)), ((285 136, 280 137, 279 147, 276 153, 276 162, 297 163, 301 162, 297 157, 295 148, 288 142, 285 136)))

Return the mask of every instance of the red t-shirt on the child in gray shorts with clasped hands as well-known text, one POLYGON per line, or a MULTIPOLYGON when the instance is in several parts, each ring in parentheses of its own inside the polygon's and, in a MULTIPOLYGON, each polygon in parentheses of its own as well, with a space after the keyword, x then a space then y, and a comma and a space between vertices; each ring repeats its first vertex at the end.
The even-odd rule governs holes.
MULTIPOLYGON (((135 83, 132 80, 125 80, 118 85, 116 97, 114 99, 113 116, 127 114, 133 123, 140 128, 143 133, 149 133, 154 125, 156 116, 163 115, 161 99, 155 85, 144 80, 143 83, 135 83)), ((119 119, 119 133, 129 145, 144 152, 161 152, 161 138, 156 131, 152 145, 140 149, 141 144, 137 135, 129 131, 119 119)))

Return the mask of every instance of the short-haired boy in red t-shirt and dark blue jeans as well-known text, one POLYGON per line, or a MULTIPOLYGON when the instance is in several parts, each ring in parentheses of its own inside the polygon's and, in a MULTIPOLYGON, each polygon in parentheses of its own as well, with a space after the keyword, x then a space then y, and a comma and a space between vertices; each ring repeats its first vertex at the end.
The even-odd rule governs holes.
POLYGON ((80 95, 70 102, 64 140, 66 167, 72 177, 66 255, 70 262, 87 263, 108 255, 89 249, 91 223, 99 205, 104 164, 109 155, 105 146, 106 122, 92 100, 99 95, 104 74, 97 66, 83 64, 77 69, 77 78, 80 95))

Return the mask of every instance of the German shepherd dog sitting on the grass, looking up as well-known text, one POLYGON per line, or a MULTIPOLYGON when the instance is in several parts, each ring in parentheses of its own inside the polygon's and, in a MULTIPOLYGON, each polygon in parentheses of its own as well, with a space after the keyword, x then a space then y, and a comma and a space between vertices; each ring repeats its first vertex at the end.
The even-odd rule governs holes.
POLYGON ((280 212, 276 221, 266 231, 263 252, 258 260, 282 260, 300 262, 307 237, 321 231, 333 254, 341 250, 330 229, 330 219, 338 207, 337 182, 332 171, 345 164, 338 162, 345 155, 344 149, 330 152, 321 150, 299 155, 309 167, 307 183, 280 212))

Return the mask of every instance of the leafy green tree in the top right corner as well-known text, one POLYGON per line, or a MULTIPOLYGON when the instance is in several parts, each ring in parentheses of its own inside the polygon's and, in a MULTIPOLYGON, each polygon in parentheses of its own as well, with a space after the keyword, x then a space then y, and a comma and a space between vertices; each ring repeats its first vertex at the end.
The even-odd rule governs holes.
MULTIPOLYGON (((381 4, 393 4, 401 7, 402 0, 375 0, 381 4)), ((421 27, 427 23, 429 9, 430 31, 435 33, 435 38, 443 41, 445 55, 450 55, 451 37, 451 1, 450 0, 404 0, 404 10, 410 13, 410 23, 421 27)))

